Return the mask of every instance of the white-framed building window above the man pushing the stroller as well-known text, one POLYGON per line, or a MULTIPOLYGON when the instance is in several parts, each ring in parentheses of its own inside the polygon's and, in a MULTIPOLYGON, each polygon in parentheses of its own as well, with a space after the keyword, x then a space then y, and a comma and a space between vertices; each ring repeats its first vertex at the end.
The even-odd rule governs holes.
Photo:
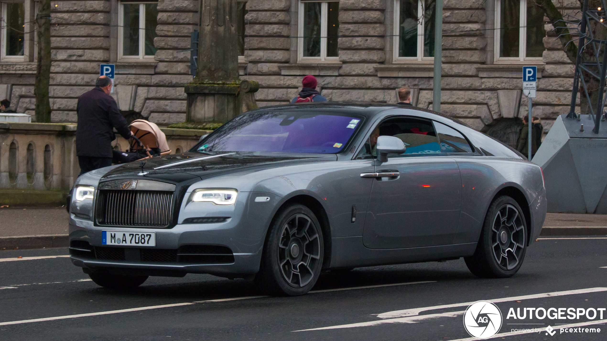
POLYGON ((118 58, 154 59, 158 2, 121 2, 118 13, 118 58))

